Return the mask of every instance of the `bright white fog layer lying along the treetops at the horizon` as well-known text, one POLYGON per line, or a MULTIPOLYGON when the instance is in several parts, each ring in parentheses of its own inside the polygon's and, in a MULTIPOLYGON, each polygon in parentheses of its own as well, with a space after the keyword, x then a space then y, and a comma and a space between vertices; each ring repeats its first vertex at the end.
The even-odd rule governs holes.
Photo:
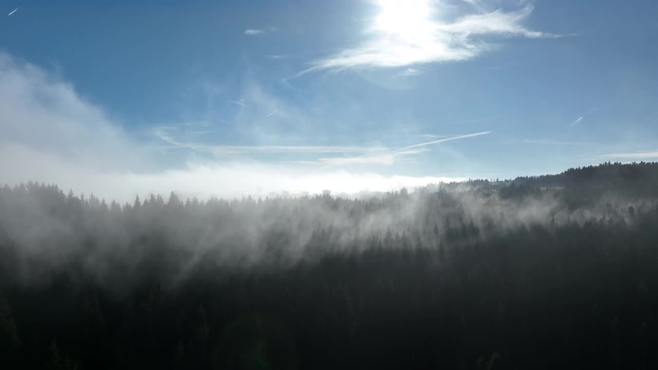
POLYGON ((20 161, 0 165, 5 174, 1 182, 53 182, 66 190, 72 188, 77 194, 94 192, 97 196, 121 202, 130 201, 136 194, 145 199, 147 194, 166 195, 172 190, 183 198, 240 198, 267 196, 272 192, 320 194, 324 189, 332 190, 334 194, 387 192, 402 187, 413 188, 429 183, 463 180, 447 176, 384 176, 374 172, 355 173, 342 169, 325 171, 253 161, 190 162, 182 169, 153 172, 100 171, 17 145, 0 148, 0 155, 4 158, 21 158, 20 161))

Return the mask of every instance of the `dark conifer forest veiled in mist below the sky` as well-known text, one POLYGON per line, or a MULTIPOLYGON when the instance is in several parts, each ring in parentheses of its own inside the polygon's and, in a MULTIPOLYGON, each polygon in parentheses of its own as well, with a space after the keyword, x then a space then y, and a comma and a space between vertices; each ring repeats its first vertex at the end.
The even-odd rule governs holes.
POLYGON ((658 163, 357 198, 5 185, 0 367, 656 368, 657 267, 658 163))

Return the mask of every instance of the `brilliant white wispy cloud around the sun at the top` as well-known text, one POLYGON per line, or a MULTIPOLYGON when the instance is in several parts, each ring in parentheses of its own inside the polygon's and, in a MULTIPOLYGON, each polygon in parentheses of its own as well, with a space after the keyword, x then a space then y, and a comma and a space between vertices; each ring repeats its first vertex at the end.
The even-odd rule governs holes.
POLYGON ((484 40, 486 36, 557 37, 523 26, 533 11, 532 5, 505 12, 501 9, 486 11, 475 1, 468 3, 476 7, 477 13, 472 13, 473 7, 468 7, 461 9, 461 15, 450 17, 447 7, 440 1, 378 0, 380 13, 365 30, 372 36, 368 41, 318 59, 295 77, 320 69, 465 61, 492 49, 484 40))

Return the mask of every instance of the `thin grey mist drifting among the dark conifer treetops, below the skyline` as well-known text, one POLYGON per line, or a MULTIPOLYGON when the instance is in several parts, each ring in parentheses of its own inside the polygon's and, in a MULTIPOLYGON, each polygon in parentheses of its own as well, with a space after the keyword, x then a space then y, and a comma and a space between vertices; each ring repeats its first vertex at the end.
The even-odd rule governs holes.
POLYGON ((328 190, 229 199, 170 192, 118 203, 28 182, 0 193, 0 238, 19 247, 12 268, 24 282, 77 261, 82 276, 119 291, 145 273, 176 284, 202 264, 286 267, 368 248, 449 249, 601 217, 626 222, 629 205, 642 211, 651 204, 607 192, 574 207, 569 194, 478 180, 351 197, 328 190))

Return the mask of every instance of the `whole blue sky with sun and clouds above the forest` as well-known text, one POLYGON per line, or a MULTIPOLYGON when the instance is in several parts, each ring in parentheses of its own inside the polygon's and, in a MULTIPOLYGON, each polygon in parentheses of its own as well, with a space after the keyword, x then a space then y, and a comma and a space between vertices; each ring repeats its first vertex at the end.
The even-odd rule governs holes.
POLYGON ((386 190, 658 159, 655 1, 0 9, 9 182, 386 190))

